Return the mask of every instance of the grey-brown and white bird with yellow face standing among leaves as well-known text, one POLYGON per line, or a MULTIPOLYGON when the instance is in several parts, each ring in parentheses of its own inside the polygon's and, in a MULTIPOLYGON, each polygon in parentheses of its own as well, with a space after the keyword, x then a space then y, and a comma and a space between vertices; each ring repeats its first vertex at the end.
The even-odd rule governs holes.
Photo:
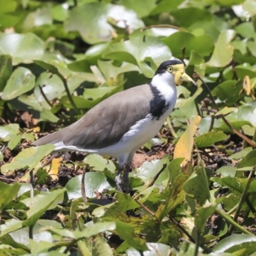
POLYGON ((78 151, 118 160, 116 189, 130 193, 129 170, 138 148, 156 136, 177 100, 177 86, 195 84, 180 60, 166 60, 147 84, 103 100, 71 125, 34 141, 52 144, 54 152, 78 151))

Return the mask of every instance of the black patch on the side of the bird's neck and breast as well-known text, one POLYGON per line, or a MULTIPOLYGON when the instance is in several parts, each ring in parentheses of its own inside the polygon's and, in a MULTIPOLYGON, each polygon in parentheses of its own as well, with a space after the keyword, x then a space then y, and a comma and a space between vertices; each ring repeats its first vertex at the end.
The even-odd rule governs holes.
POLYGON ((164 99, 163 95, 157 90, 156 86, 150 85, 151 92, 153 93, 153 99, 150 100, 150 114, 159 120, 159 118, 163 115, 168 108, 169 104, 164 99))

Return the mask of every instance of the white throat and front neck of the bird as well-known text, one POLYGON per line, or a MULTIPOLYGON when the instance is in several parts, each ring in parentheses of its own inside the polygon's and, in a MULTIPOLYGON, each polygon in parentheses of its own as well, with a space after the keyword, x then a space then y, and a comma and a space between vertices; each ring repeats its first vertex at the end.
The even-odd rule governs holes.
MULTIPOLYGON (((164 99, 173 107, 177 99, 177 86, 173 74, 165 72, 163 74, 156 74, 151 81, 152 86, 163 95, 164 99)), ((173 108, 172 107, 172 108, 173 108)))

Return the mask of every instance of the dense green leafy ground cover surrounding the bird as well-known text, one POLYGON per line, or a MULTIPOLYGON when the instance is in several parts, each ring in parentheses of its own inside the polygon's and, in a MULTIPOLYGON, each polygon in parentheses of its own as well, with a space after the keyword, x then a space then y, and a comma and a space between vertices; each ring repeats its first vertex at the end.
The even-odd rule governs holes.
POLYGON ((255 255, 255 0, 0 6, 0 255, 255 255), (26 147, 172 57, 198 86, 178 87, 134 195, 115 191, 110 159, 47 164, 51 145, 26 147))

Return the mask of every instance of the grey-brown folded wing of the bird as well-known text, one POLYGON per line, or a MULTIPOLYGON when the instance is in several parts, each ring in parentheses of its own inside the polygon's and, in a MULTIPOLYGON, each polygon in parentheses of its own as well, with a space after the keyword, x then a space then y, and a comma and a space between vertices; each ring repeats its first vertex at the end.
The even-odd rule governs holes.
POLYGON ((95 149, 120 141, 125 132, 149 113, 148 84, 116 93, 100 102, 80 120, 35 141, 33 145, 62 142, 66 147, 95 149))

